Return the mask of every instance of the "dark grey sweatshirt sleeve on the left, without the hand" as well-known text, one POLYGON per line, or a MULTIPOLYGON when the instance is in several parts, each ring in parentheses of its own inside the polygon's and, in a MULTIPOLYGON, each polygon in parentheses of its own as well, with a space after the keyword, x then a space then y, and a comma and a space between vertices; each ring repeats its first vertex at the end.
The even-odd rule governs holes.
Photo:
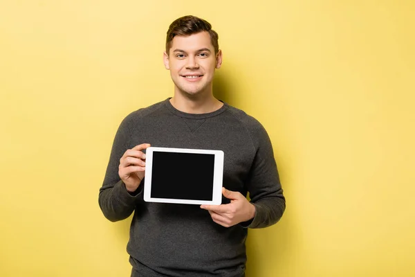
POLYGON ((129 149, 131 139, 129 117, 125 118, 113 141, 107 172, 98 196, 102 213, 108 220, 124 220, 133 213, 136 204, 142 199, 142 184, 135 193, 129 193, 118 175, 118 166, 124 152, 129 149))

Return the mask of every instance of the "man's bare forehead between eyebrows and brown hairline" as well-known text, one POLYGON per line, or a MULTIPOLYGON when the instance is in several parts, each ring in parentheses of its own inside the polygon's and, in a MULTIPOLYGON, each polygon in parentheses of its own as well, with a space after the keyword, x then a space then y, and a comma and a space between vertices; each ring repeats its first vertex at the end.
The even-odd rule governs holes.
POLYGON ((172 40, 172 51, 176 48, 183 51, 198 51, 201 48, 208 48, 214 52, 214 46, 208 32, 201 32, 192 35, 176 35, 172 40))

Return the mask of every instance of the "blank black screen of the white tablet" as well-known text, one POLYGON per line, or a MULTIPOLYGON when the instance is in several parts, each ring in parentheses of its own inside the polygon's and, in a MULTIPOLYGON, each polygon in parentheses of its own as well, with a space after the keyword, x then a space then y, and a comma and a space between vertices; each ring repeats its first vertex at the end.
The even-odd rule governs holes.
POLYGON ((212 200, 214 154, 153 152, 151 197, 212 200))

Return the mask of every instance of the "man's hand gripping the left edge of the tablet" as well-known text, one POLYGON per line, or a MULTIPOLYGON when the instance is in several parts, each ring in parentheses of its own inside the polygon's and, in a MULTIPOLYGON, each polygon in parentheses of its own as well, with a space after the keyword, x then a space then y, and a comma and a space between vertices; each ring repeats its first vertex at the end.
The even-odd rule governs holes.
POLYGON ((137 145, 127 150, 120 159, 118 175, 125 184, 125 188, 133 193, 140 186, 145 175, 145 154, 141 150, 149 148, 148 143, 137 145))

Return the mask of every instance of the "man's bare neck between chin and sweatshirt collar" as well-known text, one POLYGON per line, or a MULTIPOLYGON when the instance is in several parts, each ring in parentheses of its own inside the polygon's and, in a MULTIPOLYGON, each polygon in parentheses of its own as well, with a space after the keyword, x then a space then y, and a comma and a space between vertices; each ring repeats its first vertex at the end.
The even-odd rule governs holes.
POLYGON ((220 109, 223 103, 209 93, 207 95, 183 96, 182 93, 174 93, 170 103, 187 114, 207 114, 220 109))

